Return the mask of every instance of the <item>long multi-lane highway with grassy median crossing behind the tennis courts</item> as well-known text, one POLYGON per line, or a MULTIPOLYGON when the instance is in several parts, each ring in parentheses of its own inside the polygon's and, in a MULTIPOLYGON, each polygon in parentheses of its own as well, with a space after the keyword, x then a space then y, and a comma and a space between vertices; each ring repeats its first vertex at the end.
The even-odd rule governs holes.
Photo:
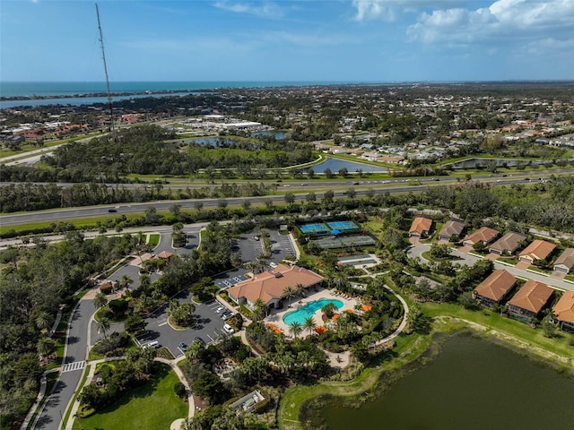
MULTIPOLYGON (((412 181, 412 179, 403 179, 399 181, 385 181, 388 184, 380 184, 382 181, 377 181, 378 184, 373 184, 374 181, 370 181, 370 184, 362 181, 363 184, 355 185, 355 182, 339 182, 337 186, 339 190, 333 190, 335 197, 344 196, 345 192, 349 188, 355 188, 357 195, 365 195, 367 193, 408 193, 420 192, 427 189, 430 186, 448 185, 447 181, 439 182, 433 179, 426 179, 426 185, 406 185, 405 183, 412 181), (402 181, 402 185, 398 183, 402 181), (343 189, 344 188, 344 189, 343 189)), ((422 179, 419 179, 422 181, 422 179)), ((524 177, 503 177, 499 179, 487 178, 483 179, 481 182, 488 183, 490 185, 509 185, 509 184, 528 184, 531 181, 524 177)), ((323 188, 323 184, 321 186, 323 188)), ((226 198, 225 201, 230 204, 240 204, 248 200, 251 203, 263 203, 268 200, 272 202, 284 202, 284 193, 293 193, 296 201, 305 200, 305 197, 309 191, 313 191, 310 187, 306 186, 293 186, 292 188, 282 188, 282 194, 265 195, 257 197, 230 197, 226 198)), ((324 191, 313 191, 316 194, 317 199, 320 199, 324 195, 324 191)), ((95 218, 103 216, 116 216, 121 214, 130 214, 143 212, 147 208, 154 207, 157 211, 168 211, 170 206, 173 204, 178 204, 181 209, 193 209, 195 208, 196 202, 202 202, 204 208, 217 207, 221 199, 187 199, 187 200, 162 200, 156 202, 143 202, 143 203, 120 203, 120 204, 109 204, 100 206, 86 206, 86 207, 76 207, 70 209, 57 209, 48 211, 33 211, 24 212, 17 214, 9 214, 0 216, 0 225, 2 226, 16 226, 19 224, 27 224, 34 222, 47 222, 47 221, 64 221, 67 219, 82 219, 82 218, 95 218), (112 211, 112 212, 110 212, 112 211)))

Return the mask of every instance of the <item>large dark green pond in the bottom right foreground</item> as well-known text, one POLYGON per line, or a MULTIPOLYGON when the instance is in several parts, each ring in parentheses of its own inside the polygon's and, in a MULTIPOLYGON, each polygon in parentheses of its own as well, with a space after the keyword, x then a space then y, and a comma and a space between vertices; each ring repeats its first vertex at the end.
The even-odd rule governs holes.
POLYGON ((459 334, 430 365, 359 409, 321 410, 330 430, 574 428, 574 380, 459 334))

